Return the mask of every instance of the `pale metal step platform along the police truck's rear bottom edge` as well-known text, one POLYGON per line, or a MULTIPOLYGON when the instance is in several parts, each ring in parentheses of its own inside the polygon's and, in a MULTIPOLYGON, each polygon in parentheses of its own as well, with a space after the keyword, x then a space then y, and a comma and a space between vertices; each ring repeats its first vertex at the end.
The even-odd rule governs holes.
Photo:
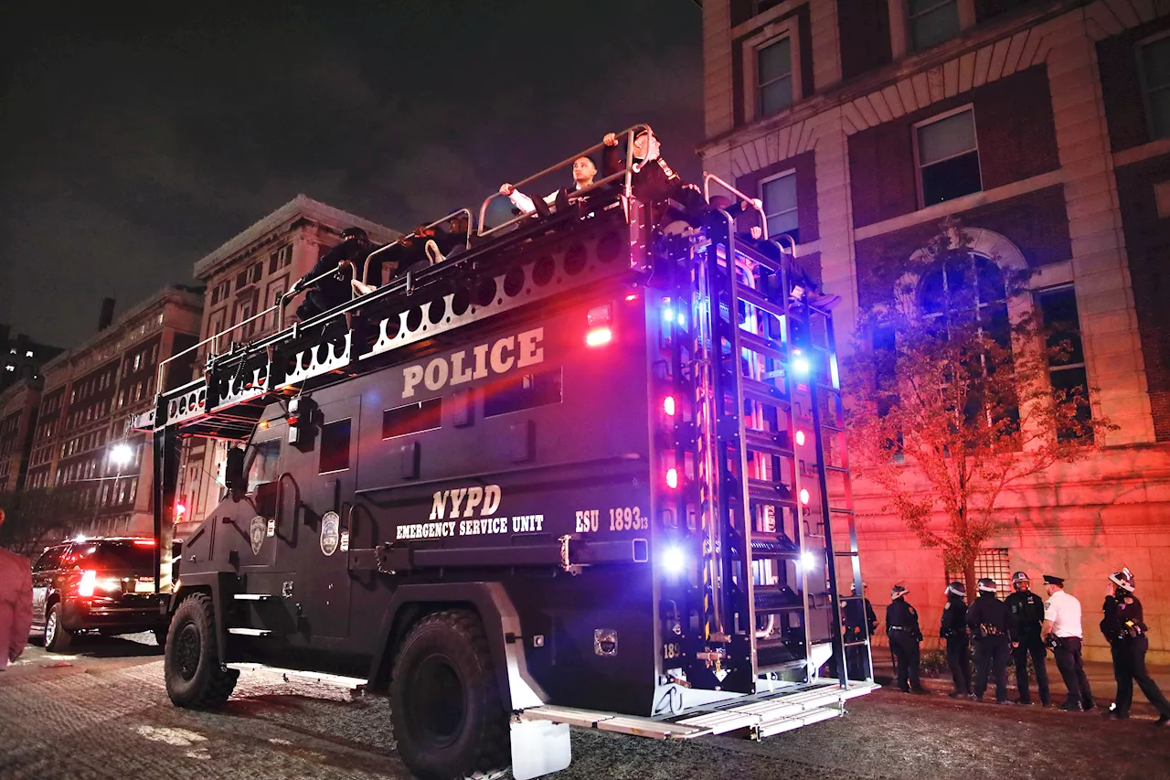
MULTIPOLYGON (((653 739, 695 739, 709 734, 744 732, 752 739, 807 726, 845 714, 845 702, 878 690, 873 683, 851 682, 841 689, 838 683, 821 683, 814 686, 783 693, 765 693, 759 698, 735 699, 727 706, 711 709, 675 720, 660 720, 636 716, 594 712, 544 705, 523 710, 519 720, 550 720, 571 726, 613 731, 653 739)), ((706 707, 704 707, 706 709, 706 707)))

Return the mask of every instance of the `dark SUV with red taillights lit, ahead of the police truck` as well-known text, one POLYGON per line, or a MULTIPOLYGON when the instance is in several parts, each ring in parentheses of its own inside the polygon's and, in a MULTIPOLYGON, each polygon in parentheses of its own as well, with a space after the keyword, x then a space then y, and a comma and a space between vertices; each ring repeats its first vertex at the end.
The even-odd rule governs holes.
POLYGON ((60 652, 80 631, 153 631, 166 643, 167 616, 154 593, 154 540, 88 539, 54 545, 33 566, 33 628, 60 652))

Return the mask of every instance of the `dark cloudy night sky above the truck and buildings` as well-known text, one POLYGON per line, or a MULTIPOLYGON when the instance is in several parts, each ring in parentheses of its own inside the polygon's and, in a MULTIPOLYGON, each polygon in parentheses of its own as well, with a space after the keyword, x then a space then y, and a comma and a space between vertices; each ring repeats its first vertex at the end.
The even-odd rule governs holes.
POLYGON ((56 345, 298 192, 410 230, 635 122, 701 172, 694 0, 46 5, 0 11, 0 322, 56 345))

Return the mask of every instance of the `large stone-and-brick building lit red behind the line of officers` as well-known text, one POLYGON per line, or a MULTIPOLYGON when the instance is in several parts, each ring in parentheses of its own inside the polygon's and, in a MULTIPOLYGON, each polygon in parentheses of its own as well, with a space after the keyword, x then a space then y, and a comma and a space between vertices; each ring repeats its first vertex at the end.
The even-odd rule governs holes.
MULTIPOLYGON (((1024 303, 1079 321, 1051 379, 1119 430, 1012 491, 977 568, 1064 574, 1103 659, 1104 577, 1128 566, 1170 661, 1170 2, 706 0, 703 25, 704 167, 797 238, 840 333, 948 215, 1037 271, 1024 303)), ((874 601, 904 582, 937 627, 941 556, 855 490, 874 601)))

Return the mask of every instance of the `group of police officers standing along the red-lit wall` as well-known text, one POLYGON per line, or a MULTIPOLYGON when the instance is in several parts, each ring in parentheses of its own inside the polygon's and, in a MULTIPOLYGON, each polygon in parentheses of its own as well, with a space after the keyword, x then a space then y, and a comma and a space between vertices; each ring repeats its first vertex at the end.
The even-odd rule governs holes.
MULTIPOLYGON (((1134 698, 1134 683, 1158 711, 1156 725, 1170 725, 1170 702, 1145 670, 1149 648, 1147 625, 1142 620, 1142 603, 1134 595, 1136 582, 1129 569, 1109 575, 1100 623, 1101 632, 1113 654, 1114 677, 1117 680, 1116 702, 1107 714, 1128 718, 1134 698)), ((989 679, 996 684, 996 702, 1014 704, 1007 698, 1007 659, 1016 665, 1019 704, 1032 704, 1028 661, 1035 673, 1040 704, 1052 705, 1045 657, 1048 650, 1057 661, 1057 669, 1068 690, 1061 710, 1086 712, 1096 704, 1085 675, 1081 658, 1083 631, 1080 601, 1065 593, 1064 579, 1044 576, 1048 600, 1032 591, 1032 583, 1024 572, 1012 575, 1012 594, 1000 601, 996 582, 979 580, 979 593, 969 605, 966 588, 962 582, 947 586, 947 605, 943 608, 940 636, 947 641, 947 664, 955 690, 952 698, 983 700, 989 679), (975 679, 971 678, 970 645, 975 644, 975 679)), ((897 686, 907 693, 927 693, 918 676, 922 629, 918 614, 907 600, 909 590, 897 584, 890 591, 886 608, 886 634, 894 657, 897 686)), ((853 593, 856 596, 855 589, 853 593)), ((842 610, 845 645, 851 677, 866 669, 865 636, 878 630, 878 617, 868 597, 846 600, 842 610)), ((862 675, 865 677, 867 675, 862 675)))

